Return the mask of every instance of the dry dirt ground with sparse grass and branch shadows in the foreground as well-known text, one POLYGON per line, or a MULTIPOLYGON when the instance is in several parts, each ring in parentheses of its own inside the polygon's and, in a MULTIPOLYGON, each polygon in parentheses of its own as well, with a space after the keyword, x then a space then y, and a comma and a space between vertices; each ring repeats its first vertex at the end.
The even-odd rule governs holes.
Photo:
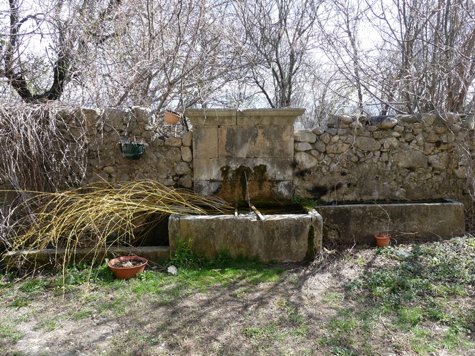
MULTIPOLYGON (((65 298, 38 291, 24 303, 6 294, 0 299, 0 350, 82 356, 475 355, 460 342, 437 343, 447 326, 422 321, 401 327, 391 313, 380 314, 371 299, 355 298, 346 288, 365 271, 394 260, 372 248, 349 248, 322 254, 319 262, 280 266, 275 281, 189 286, 168 299, 163 294, 173 286, 157 286, 163 292, 154 293, 134 285, 124 294, 89 285, 81 302, 77 293, 86 285, 65 298)), ((473 295, 460 298, 473 307, 473 295)), ((473 337, 467 335, 469 345, 473 337)))

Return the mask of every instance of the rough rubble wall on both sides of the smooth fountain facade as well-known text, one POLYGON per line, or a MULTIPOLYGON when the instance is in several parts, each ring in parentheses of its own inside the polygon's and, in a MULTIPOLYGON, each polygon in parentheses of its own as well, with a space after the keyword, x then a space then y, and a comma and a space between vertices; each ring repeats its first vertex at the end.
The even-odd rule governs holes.
MULTIPOLYGON (((161 136, 159 127, 163 122, 147 108, 83 108, 68 115, 72 119, 82 115, 86 122, 87 181, 154 179, 166 186, 193 188, 193 147, 212 144, 209 139, 193 143, 192 132, 179 137, 161 136), (122 157, 118 143, 125 138, 147 144, 140 159, 122 157)), ((200 138, 198 133, 195 140, 200 138)), ((396 115, 371 119, 339 115, 326 127, 296 131, 293 140, 293 163, 289 163, 289 168, 293 168, 291 190, 295 196, 321 202, 439 198, 472 202, 473 115, 396 115)), ((245 144, 249 140, 246 136, 245 140, 234 141, 245 144)), ((252 145, 266 142, 255 140, 252 145)), ((219 144, 216 140, 216 152, 219 144)), ((272 145, 287 147, 288 143, 272 145)), ((272 147, 248 147, 246 152, 266 152, 272 147)), ((229 165, 225 161, 230 157, 225 153, 217 159, 229 165)), ((272 156, 272 152, 269 154, 272 156)), ((245 159, 252 157, 248 155, 245 159)), ((203 164, 202 170, 206 168, 203 164)), ((275 177, 279 174, 276 171, 275 177)))

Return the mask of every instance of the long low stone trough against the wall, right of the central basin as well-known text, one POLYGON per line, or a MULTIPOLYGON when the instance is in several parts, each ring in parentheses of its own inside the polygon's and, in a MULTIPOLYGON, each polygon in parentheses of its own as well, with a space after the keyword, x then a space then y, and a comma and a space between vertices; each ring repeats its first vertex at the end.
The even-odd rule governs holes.
POLYGON ((316 207, 323 217, 323 243, 371 244, 374 234, 387 233, 401 243, 414 238, 437 239, 465 233, 460 202, 335 204, 316 207))

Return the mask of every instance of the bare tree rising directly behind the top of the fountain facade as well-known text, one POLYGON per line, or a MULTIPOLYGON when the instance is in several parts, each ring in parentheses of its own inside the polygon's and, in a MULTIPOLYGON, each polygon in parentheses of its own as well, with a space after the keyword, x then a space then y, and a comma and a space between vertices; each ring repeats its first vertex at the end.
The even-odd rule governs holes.
POLYGON ((243 26, 244 52, 255 83, 271 107, 293 104, 305 60, 316 44, 316 16, 321 1, 233 1, 243 26))

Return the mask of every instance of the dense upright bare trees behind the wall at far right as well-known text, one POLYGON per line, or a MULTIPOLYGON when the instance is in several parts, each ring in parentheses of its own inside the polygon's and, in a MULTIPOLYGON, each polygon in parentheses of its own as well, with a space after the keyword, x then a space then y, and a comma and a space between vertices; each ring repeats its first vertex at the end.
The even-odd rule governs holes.
POLYGON ((408 113, 463 112, 475 79, 475 3, 463 0, 378 0, 371 23, 383 40, 375 76, 381 97, 408 113))

